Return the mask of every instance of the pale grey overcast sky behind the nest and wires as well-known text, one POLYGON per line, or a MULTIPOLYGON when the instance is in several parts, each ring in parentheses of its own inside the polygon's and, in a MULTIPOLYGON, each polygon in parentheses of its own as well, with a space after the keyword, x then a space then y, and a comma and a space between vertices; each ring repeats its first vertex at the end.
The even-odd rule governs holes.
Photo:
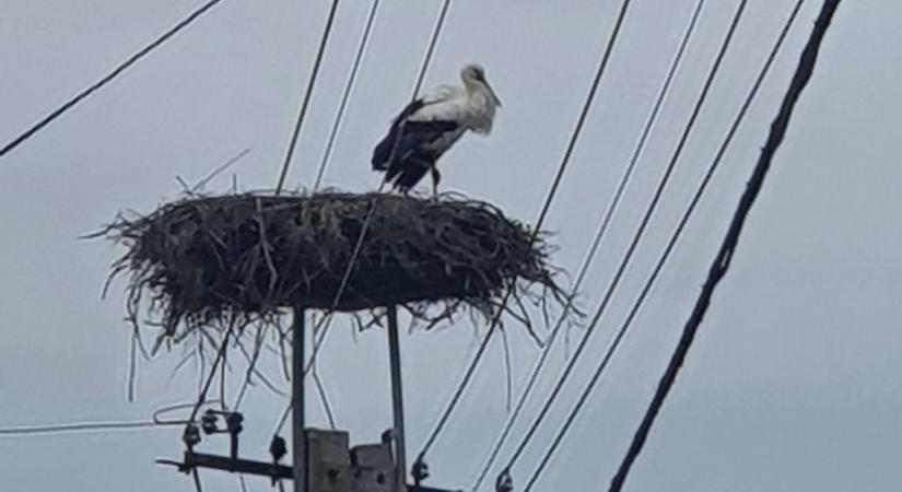
MULTIPOLYGON (((106 73, 199 0, 3 0, 0 141, 106 73)), ((99 298, 121 250, 80 241, 117 211, 150 211, 245 148, 244 189, 274 185, 328 3, 225 0, 115 83, 0 160, 0 427, 145 419, 190 400, 172 380, 180 351, 142 363, 126 400, 121 281, 99 298)), ((326 181, 364 191, 372 145, 412 89, 438 0, 386 0, 326 181)), ((442 160, 445 189, 532 222, 619 8, 613 0, 457 0, 426 84, 466 61, 487 68, 504 108, 489 138, 442 160)), ((676 139, 736 0, 708 0, 686 65, 583 295, 594 307, 676 139)), ((787 16, 789 0, 750 2, 661 210, 575 380, 513 470, 523 484, 629 307, 787 16)), ((548 221, 555 261, 574 271, 651 109, 694 0, 633 2, 548 221)), ((799 22, 686 239, 537 490, 602 490, 626 447, 763 143, 821 2, 799 22)), ((309 185, 370 2, 339 8, 291 187, 309 185)), ((631 491, 902 490, 902 3, 846 0, 754 209, 728 278, 628 483, 631 491)), ((208 189, 225 190, 231 175, 208 189)), ((390 424, 385 337, 336 325, 320 358, 339 424, 371 442, 390 424)), ((579 331, 571 333, 576 339, 579 331)), ((515 389, 537 349, 511 330, 515 389)), ((497 341, 497 340, 496 340, 497 341)), ((408 440, 418 448, 469 360, 467 323, 403 337, 408 440)), ((572 344, 570 347, 572 349, 572 344)), ((552 355, 548 390, 564 361, 552 355)), ((278 374, 278 373, 276 373, 278 374)), ((313 398, 311 398, 311 401, 313 398)), ((244 453, 263 458, 284 400, 256 389, 244 453)), ((531 415, 538 400, 528 406, 531 415)), ((311 419, 325 425, 319 407, 311 419)), ((505 418, 499 343, 430 456, 435 487, 469 488, 505 418)), ((523 432, 517 427, 516 434, 523 432)), ((191 491, 153 464, 180 454, 178 429, 0 436, 4 491, 191 491)), ((223 450, 224 443, 209 443, 223 450)), ((203 475, 207 490, 238 490, 203 475)), ((491 480, 490 480, 491 482, 491 480)), ((250 479, 253 491, 269 490, 250 479)), ((489 490, 489 489, 485 489, 489 490)))

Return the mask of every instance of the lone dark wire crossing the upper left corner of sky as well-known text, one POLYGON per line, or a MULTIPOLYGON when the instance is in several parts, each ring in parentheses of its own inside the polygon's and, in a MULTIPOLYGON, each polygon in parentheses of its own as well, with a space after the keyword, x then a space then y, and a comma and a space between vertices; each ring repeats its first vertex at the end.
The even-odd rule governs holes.
POLYGON ((215 7, 222 0, 210 0, 207 3, 202 4, 197 10, 191 12, 187 17, 183 19, 177 24, 175 24, 173 27, 171 27, 168 31, 163 33, 160 37, 157 37, 156 39, 151 42, 151 44, 144 46, 143 48, 138 50, 136 54, 130 56, 128 59, 126 59, 124 62, 119 63, 116 68, 113 69, 112 72, 107 73, 101 80, 98 80, 97 82, 94 82, 87 89, 85 89, 82 92, 78 93, 72 98, 70 98, 69 101, 63 103, 61 106, 54 109, 49 115, 45 116, 44 119, 42 119, 38 122, 34 124, 31 128, 28 128, 27 130, 22 132, 22 134, 20 134, 19 137, 14 138, 11 142, 3 145, 3 148, 0 149, 0 157, 2 157, 3 155, 7 155, 13 149, 17 148, 19 145, 24 143, 26 140, 34 137, 35 133, 43 130, 44 127, 46 127, 47 125, 52 122, 55 119, 62 116, 69 109, 72 109, 77 104, 79 104, 82 101, 84 101, 85 98, 87 98, 87 96, 90 96, 94 92, 98 91, 104 85, 108 84, 109 82, 113 82, 113 80, 115 80, 117 77, 119 77, 129 67, 131 67, 132 65, 138 62, 140 59, 142 59, 147 55, 149 55, 151 51, 153 51, 154 49, 159 48, 161 45, 166 43, 169 38, 172 38, 176 34, 178 34, 179 31, 181 31, 185 27, 188 27, 189 25, 191 25, 191 23, 194 23, 198 17, 200 17, 201 15, 207 13, 207 11, 209 11, 210 9, 215 7))

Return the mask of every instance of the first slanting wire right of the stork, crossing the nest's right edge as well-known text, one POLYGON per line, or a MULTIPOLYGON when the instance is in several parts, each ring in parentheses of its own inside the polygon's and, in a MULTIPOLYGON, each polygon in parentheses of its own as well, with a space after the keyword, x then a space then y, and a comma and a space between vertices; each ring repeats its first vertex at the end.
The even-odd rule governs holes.
MULTIPOLYGON (((631 0, 623 0, 623 3, 621 4, 620 13, 617 16, 617 21, 614 22, 613 31, 611 32, 610 38, 608 39, 607 46, 605 47, 605 50, 601 55, 601 60, 599 61, 598 69, 596 70, 595 78, 594 78, 594 80, 591 82, 591 86, 589 89, 589 93, 586 96, 586 101, 583 104, 583 109, 579 113, 579 117, 576 121, 576 127, 573 130, 570 142, 567 143, 566 150, 564 151, 564 155, 561 159, 561 164, 558 166, 558 172, 554 176, 554 180, 551 184, 551 188, 548 191, 548 196, 544 200, 544 204, 542 206, 542 209, 539 212, 539 216, 536 221, 536 225, 532 230, 532 235, 530 237, 530 244, 536 239, 536 237, 539 234, 539 231, 541 230, 541 225, 544 222, 546 216, 548 215, 548 211, 550 210, 551 202, 554 200, 554 196, 558 192, 558 188, 559 188, 559 186, 561 184, 561 180, 563 178, 564 172, 566 171, 566 167, 570 164, 570 159, 573 155, 574 149, 576 148, 576 142, 579 139, 579 136, 581 136, 582 130, 583 130, 583 126, 585 125, 586 118, 588 117, 588 113, 589 113, 589 109, 591 107, 591 103, 594 102, 595 95, 598 91, 598 86, 600 85, 601 77, 605 74, 605 71, 606 71, 605 69, 608 66, 608 60, 610 60, 611 52, 613 51, 613 46, 614 46, 614 44, 617 42, 617 38, 620 34, 620 28, 622 27, 623 20, 626 16, 626 11, 629 10, 629 7, 630 7, 630 1, 631 0)), ((462 379, 458 384, 455 391, 452 394, 452 398, 448 401, 447 406, 445 407, 445 410, 443 411, 442 415, 438 418, 438 421, 433 426, 432 432, 430 433, 429 437, 426 438, 422 449, 420 450, 420 453, 417 457, 417 462, 421 464, 423 461, 423 459, 425 458, 425 455, 429 452, 430 447, 432 447, 432 445, 435 443, 436 438, 442 433, 445 424, 447 423, 448 419, 450 418, 450 414, 454 412, 455 408, 457 407, 457 403, 460 401, 460 397, 464 395, 464 390, 469 385, 470 380, 472 379, 473 374, 476 374, 476 368, 479 365, 479 362, 482 360, 482 356, 485 353, 485 349, 489 347, 489 341, 491 340, 492 333, 494 332, 495 328, 497 327, 499 321, 501 320, 501 316, 504 312, 504 306, 506 305, 507 300, 512 295, 513 290, 514 290, 514 286, 512 285, 507 290, 507 292, 505 293, 505 296, 502 300, 501 308, 497 309, 497 313, 495 314, 494 319, 492 320, 491 325, 489 326, 489 330, 485 333, 485 337, 482 339, 482 342, 480 343, 480 347, 477 350, 477 353, 473 356, 473 360, 470 361, 470 364, 468 365, 468 367, 467 367, 467 370, 464 374, 462 379)))

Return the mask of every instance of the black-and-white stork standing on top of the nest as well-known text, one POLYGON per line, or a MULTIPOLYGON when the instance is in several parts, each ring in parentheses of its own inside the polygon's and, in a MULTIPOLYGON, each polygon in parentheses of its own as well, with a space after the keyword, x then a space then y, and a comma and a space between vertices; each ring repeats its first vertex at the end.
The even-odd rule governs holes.
POLYGON ((385 180, 401 192, 431 172, 432 190, 437 195, 438 157, 467 130, 492 131, 501 101, 485 81, 485 71, 479 65, 467 65, 460 69, 460 80, 462 87, 442 85, 410 103, 373 150, 373 169, 385 172, 385 180))

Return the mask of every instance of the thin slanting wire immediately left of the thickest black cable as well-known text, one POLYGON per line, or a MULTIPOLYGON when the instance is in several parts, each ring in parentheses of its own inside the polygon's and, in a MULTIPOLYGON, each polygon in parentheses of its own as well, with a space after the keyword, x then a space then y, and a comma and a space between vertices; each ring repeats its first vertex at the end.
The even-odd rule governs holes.
MULTIPOLYGON (((625 337, 626 332, 630 329, 630 326, 632 325, 633 320, 635 319, 636 315, 639 314, 640 308, 642 307, 643 303, 645 302, 645 298, 647 297, 648 293, 651 292, 652 288, 654 286, 655 282, 657 281, 657 278, 660 274, 660 271, 663 270, 664 265, 667 262, 668 258, 670 257, 670 254, 673 250, 673 247, 676 246, 676 244, 678 243, 680 236, 682 235, 682 232, 683 232, 687 223, 689 222, 689 219, 692 216, 692 213, 694 212, 695 207, 699 204, 699 201, 701 200, 702 196, 704 195, 704 191, 707 188, 707 185, 710 184, 711 178, 713 177, 715 171, 717 169, 717 167, 721 164, 724 155, 726 154, 727 148, 733 142, 733 139, 736 136, 736 132, 738 131, 739 126, 741 125, 742 120, 745 119, 745 116, 746 116, 749 107, 751 106, 752 102, 754 101, 754 97, 757 96, 758 91, 761 87, 762 82, 764 81, 765 77, 768 75, 768 72, 771 69, 771 66, 772 66, 774 59, 776 58, 777 52, 780 51, 781 47, 783 46, 783 43, 786 38, 787 33, 789 32, 789 28, 795 23, 795 20, 798 15, 798 12, 799 12, 799 9, 801 8, 803 2, 804 2, 804 0, 798 0, 797 3, 795 4, 792 13, 789 14, 789 17, 787 19, 786 23, 784 24, 783 30, 781 31, 781 33, 777 37, 776 43, 774 44, 773 48, 771 49, 771 52, 769 54, 768 59, 764 62, 764 66, 762 67, 761 71, 759 72, 754 83, 752 84, 751 90, 749 91, 749 94, 747 95, 747 97, 746 97, 745 102, 742 103, 736 118, 734 119, 729 130, 727 131, 727 134, 724 138, 724 141, 722 142, 719 149, 717 150, 717 153, 715 154, 714 160, 712 161, 711 165, 708 166, 708 169, 705 173, 704 178, 702 179, 701 184, 699 185, 699 187, 695 191, 695 195, 692 197, 692 200, 690 201, 689 206, 687 207, 686 211, 683 212, 682 216, 680 218, 680 222, 678 223, 676 230, 671 234, 670 239, 667 243, 667 246, 665 247, 664 251, 661 253, 660 257, 658 258, 658 261, 655 265, 655 268, 653 269, 651 276, 648 277, 648 279, 646 279, 645 284, 643 285, 642 291, 640 292, 640 295, 636 297, 635 302, 633 303, 632 307, 630 308, 630 312, 629 312, 626 318, 624 319, 624 321, 621 325, 620 329, 617 331, 617 335, 614 336, 613 340, 611 341, 611 344, 608 347, 608 350, 606 351, 605 355, 601 358, 601 361, 599 362, 599 364, 597 365, 595 372, 593 373, 593 375, 589 379, 589 383, 586 385, 586 387, 581 393, 576 405, 573 407, 571 412, 567 414, 567 418, 565 419, 564 424, 561 426, 560 431, 558 432, 554 440, 552 441, 551 446, 549 446, 548 450, 546 452, 546 455, 542 457, 542 460, 541 460, 539 467, 537 467, 537 469, 536 469, 536 471, 532 476, 534 477, 531 479, 532 481, 538 479, 538 476, 541 473, 542 469, 547 466, 548 461, 551 459, 551 456, 557 450, 557 448, 561 444, 561 442, 563 441, 563 437, 566 435, 566 433, 570 430, 571 425, 576 420, 576 417, 578 415, 579 411, 585 406, 585 403, 588 400, 588 397, 591 394, 591 391, 594 390, 595 386, 601 379, 601 376, 604 375, 605 370, 608 367, 608 364, 610 363, 611 359, 613 358, 613 354, 617 352, 617 349, 619 348, 620 342, 625 337)), ((531 483, 531 481, 530 481, 530 483, 531 483)))

